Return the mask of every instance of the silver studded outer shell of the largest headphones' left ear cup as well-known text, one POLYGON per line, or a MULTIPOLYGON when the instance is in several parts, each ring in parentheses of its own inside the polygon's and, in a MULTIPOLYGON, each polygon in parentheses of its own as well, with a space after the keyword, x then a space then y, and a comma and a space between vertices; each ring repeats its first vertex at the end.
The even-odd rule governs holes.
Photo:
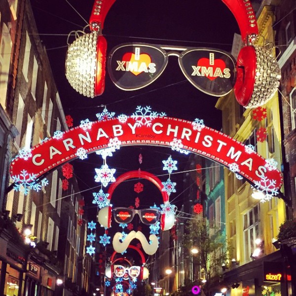
POLYGON ((98 32, 78 37, 69 45, 66 57, 66 78, 85 97, 95 97, 98 32))

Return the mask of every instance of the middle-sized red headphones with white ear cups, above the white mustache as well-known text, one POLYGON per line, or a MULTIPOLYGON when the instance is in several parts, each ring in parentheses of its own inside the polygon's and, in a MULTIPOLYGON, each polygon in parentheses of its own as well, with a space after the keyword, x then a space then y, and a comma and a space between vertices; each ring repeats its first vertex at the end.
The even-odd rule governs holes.
MULTIPOLYGON (((108 199, 111 199, 111 196, 113 194, 114 189, 122 182, 128 179, 132 178, 143 178, 150 182, 152 182, 161 192, 163 202, 167 203, 169 202, 169 196, 166 191, 163 191, 163 185, 161 181, 154 176, 151 173, 145 172, 145 171, 130 171, 127 173, 122 174, 116 179, 116 182, 112 183, 109 187, 108 193, 108 199)), ((112 217, 112 207, 104 207, 102 208, 98 213, 98 222, 106 228, 111 227, 111 217, 112 217)), ((161 230, 169 230, 171 229, 175 224, 175 214, 169 213, 169 214, 162 214, 160 216, 160 229, 161 230)))

